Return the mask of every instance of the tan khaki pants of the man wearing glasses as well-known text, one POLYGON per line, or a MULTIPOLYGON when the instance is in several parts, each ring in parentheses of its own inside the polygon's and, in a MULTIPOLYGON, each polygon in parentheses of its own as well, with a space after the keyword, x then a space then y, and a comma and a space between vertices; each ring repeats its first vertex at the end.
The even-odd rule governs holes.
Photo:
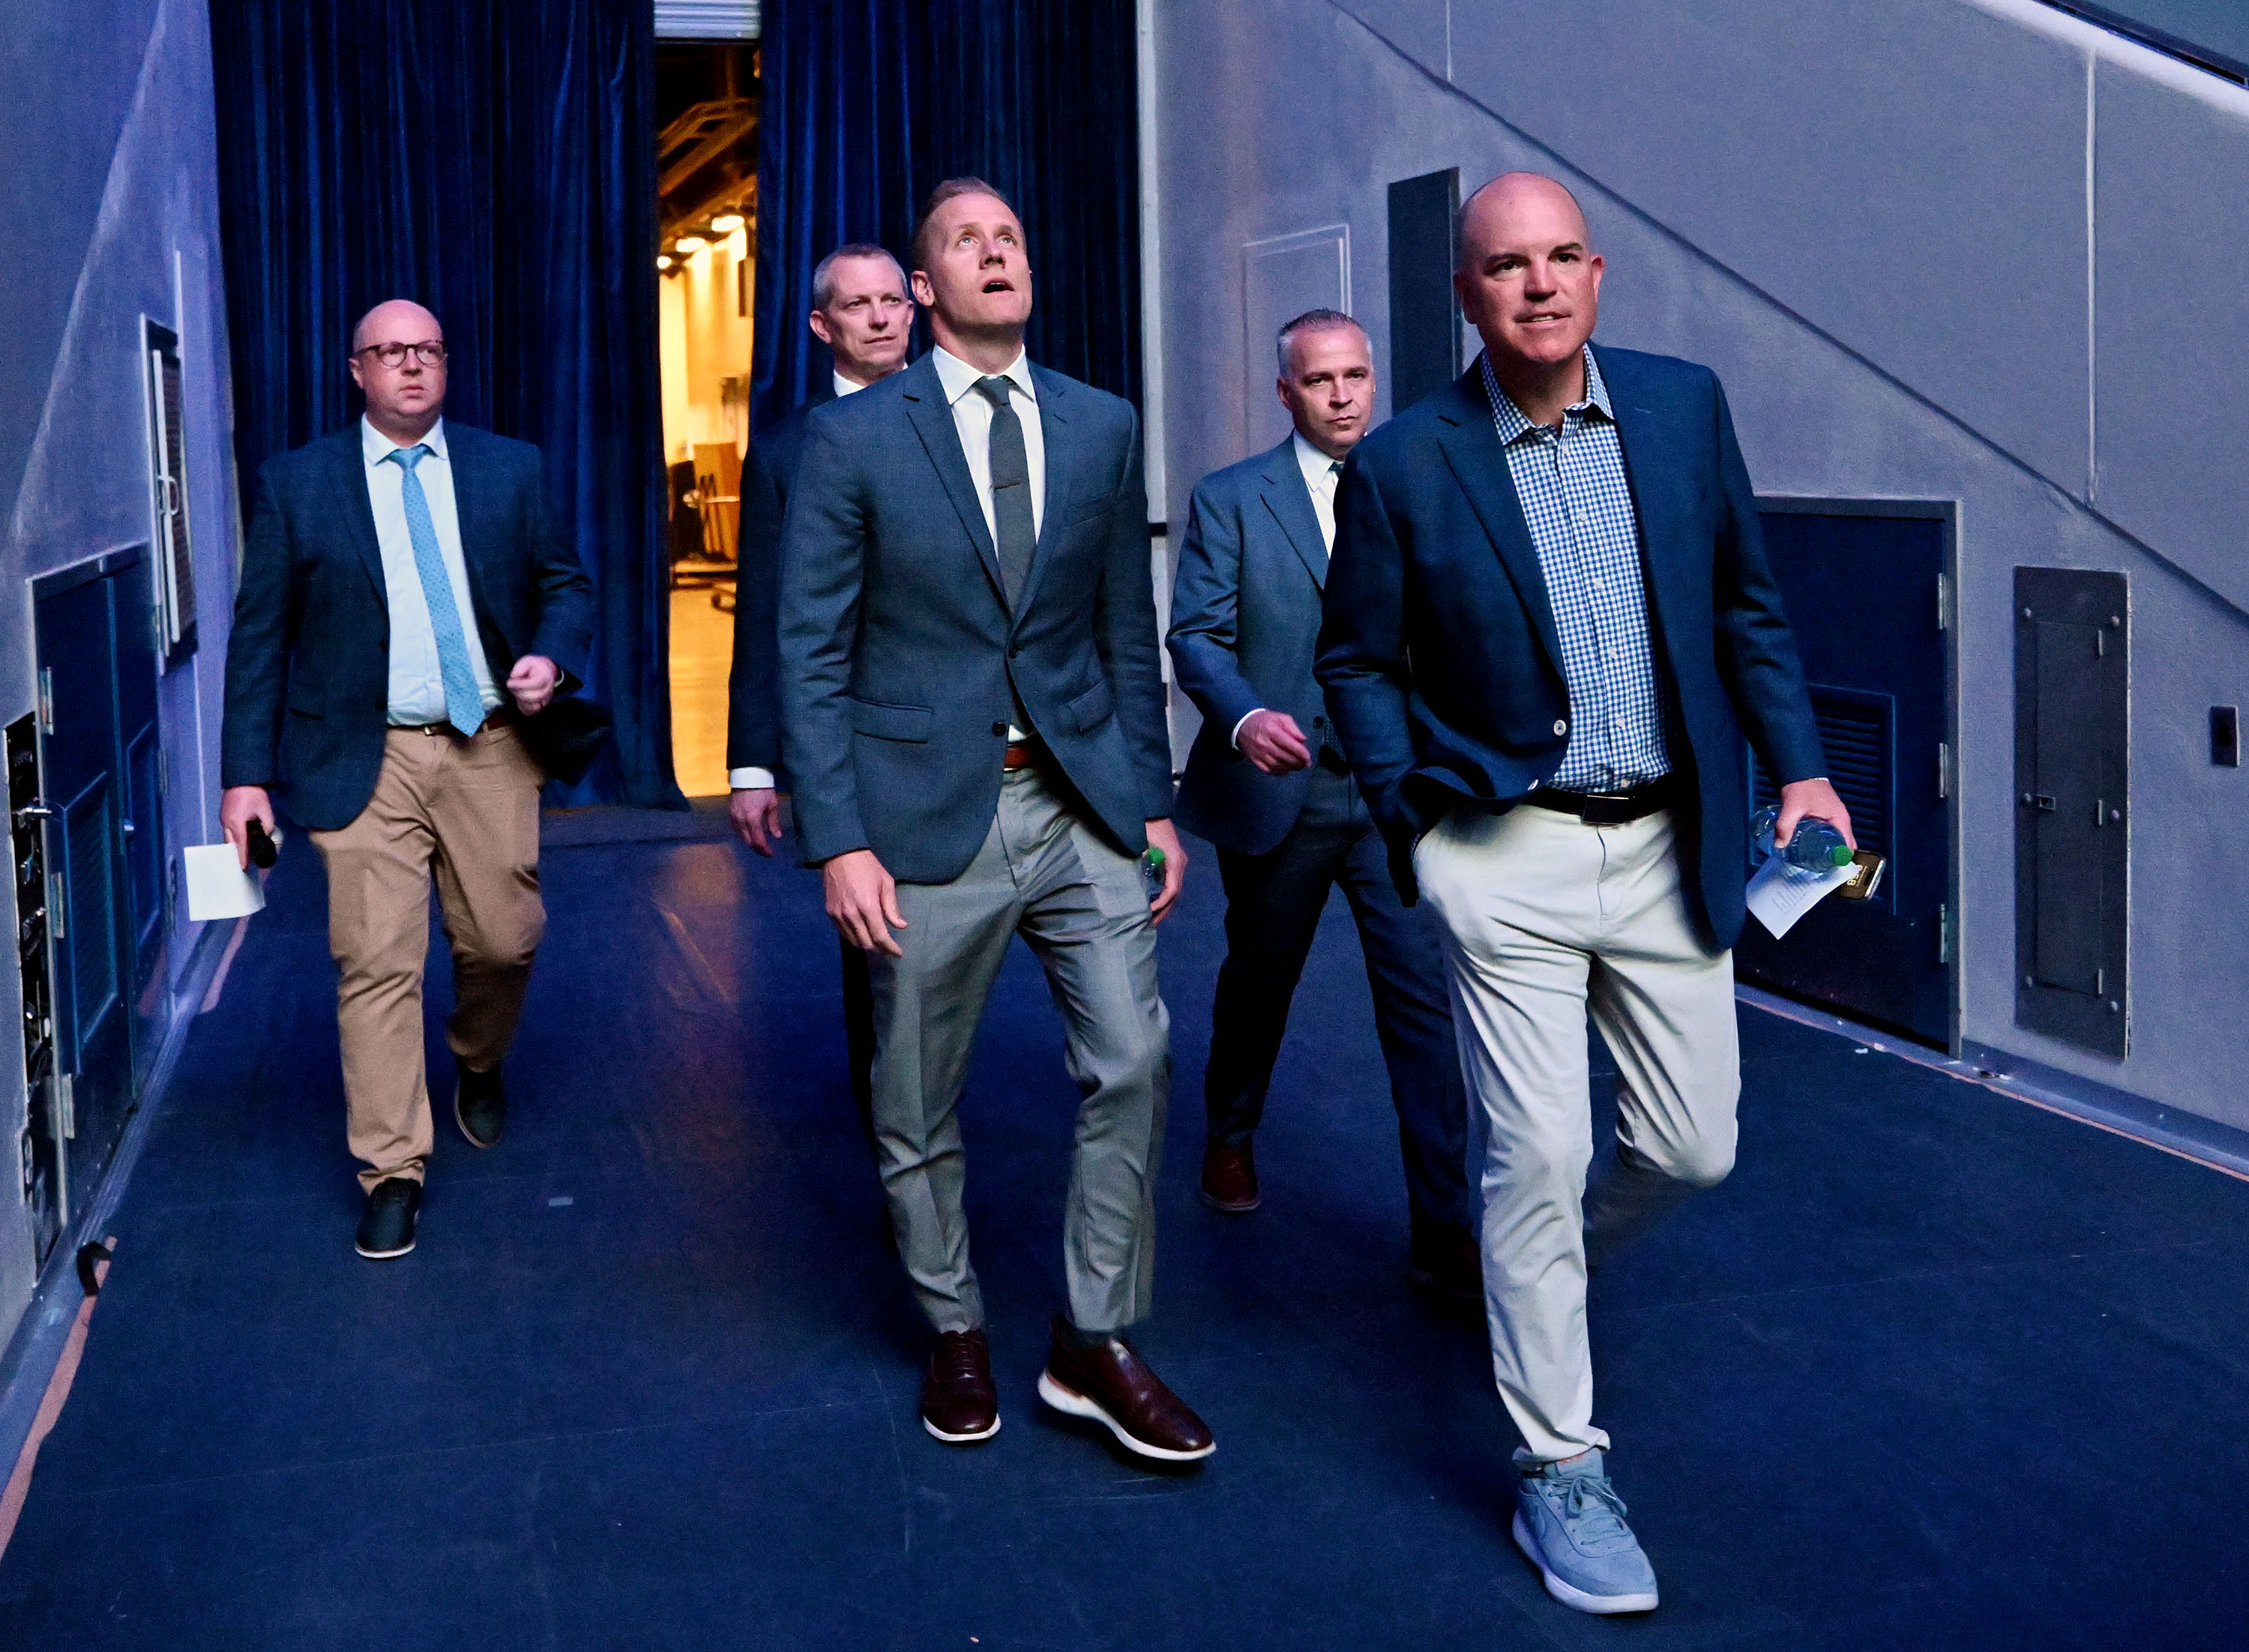
POLYGON ((461 1065, 499 1065, 547 931, 540 904, 544 773, 513 724, 475 739, 391 728, 382 775, 358 818, 315 832, 328 868, 328 951, 340 971, 344 1104, 360 1184, 423 1178, 430 1086, 423 1074, 423 964, 430 879, 452 942, 454 1011, 445 1043, 461 1065))

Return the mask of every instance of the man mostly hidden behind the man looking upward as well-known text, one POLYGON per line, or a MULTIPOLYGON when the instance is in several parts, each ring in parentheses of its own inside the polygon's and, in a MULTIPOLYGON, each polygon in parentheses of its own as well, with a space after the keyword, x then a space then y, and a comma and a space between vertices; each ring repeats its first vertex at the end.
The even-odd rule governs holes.
MULTIPOLYGON (((868 240, 837 247, 812 267, 812 335, 834 371, 812 400, 758 432, 742 465, 742 533, 735 537, 733 670, 726 679, 726 814, 758 854, 780 843, 780 530, 805 429, 816 407, 855 396, 906 364, 913 299, 906 272, 868 240)), ((859 1126, 873 1140, 875 1000, 866 953, 843 942, 843 1047, 859 1126)))

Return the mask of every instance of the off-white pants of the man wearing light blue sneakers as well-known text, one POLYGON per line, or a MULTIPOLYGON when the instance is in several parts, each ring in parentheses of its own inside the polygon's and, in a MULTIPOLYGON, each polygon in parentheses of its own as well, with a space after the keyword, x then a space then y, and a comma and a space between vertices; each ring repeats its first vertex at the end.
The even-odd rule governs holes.
POLYGON ((1493 1376, 1518 1456, 1577 1456, 1608 1445, 1586 1252, 1601 1261, 1734 1167, 1734 955, 1696 940, 1669 814, 1590 827, 1464 809, 1412 861, 1448 935, 1493 1376), (1588 1007, 1617 1059, 1617 1153, 1590 1193, 1588 1007))

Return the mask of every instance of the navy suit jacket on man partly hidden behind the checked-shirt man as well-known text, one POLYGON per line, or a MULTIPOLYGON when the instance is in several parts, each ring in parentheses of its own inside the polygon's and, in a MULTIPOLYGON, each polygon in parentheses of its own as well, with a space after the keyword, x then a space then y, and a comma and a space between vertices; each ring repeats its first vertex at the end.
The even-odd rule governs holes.
POLYGON ((1235 751, 1259 706, 1295 717, 1311 748, 1327 733, 1311 656, 1327 544, 1295 463, 1295 438, 1214 470, 1194 488, 1172 580, 1172 672, 1203 712, 1178 782, 1178 823, 1223 850, 1264 854, 1295 825, 1311 769, 1268 775, 1235 751))

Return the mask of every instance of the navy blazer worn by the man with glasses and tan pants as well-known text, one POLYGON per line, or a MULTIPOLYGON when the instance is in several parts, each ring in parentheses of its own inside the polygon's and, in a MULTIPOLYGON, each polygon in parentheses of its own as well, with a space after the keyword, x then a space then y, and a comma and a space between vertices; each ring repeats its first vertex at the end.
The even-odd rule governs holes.
MULTIPOLYGON (((524 654, 576 686, 594 587, 547 499, 540 450, 445 423, 468 596, 493 679, 524 654)), ((259 470, 227 638, 220 784, 270 787, 315 832, 351 825, 382 773, 391 609, 360 423, 259 470)), ((502 706, 508 706, 506 688, 502 706)))

